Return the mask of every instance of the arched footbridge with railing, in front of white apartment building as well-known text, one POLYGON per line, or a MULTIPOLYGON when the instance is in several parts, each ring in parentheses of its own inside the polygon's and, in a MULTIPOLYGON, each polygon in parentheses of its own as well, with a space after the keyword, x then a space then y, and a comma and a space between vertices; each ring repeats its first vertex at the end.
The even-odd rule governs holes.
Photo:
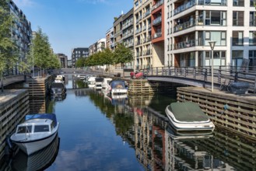
POLYGON ((256 72, 241 72, 237 69, 218 67, 185 67, 185 68, 150 68, 143 72, 149 81, 176 82, 188 86, 213 87, 219 89, 222 84, 229 82, 247 82, 250 92, 256 93, 256 72))

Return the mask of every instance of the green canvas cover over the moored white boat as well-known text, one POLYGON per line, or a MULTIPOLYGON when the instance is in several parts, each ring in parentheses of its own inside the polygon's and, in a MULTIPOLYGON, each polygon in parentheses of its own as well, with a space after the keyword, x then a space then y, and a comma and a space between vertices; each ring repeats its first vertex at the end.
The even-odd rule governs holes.
POLYGON ((174 117, 181 122, 204 122, 209 120, 209 117, 196 103, 171 103, 168 109, 174 114, 174 117))

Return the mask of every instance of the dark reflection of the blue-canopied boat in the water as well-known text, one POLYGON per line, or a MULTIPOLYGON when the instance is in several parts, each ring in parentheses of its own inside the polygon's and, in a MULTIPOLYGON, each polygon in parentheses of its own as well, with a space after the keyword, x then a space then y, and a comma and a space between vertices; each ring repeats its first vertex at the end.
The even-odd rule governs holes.
POLYGON ((19 152, 12 159, 12 170, 28 171, 47 169, 49 166, 51 166, 58 155, 59 144, 60 138, 57 134, 50 145, 47 145, 47 147, 32 155, 28 156, 19 150, 19 152))

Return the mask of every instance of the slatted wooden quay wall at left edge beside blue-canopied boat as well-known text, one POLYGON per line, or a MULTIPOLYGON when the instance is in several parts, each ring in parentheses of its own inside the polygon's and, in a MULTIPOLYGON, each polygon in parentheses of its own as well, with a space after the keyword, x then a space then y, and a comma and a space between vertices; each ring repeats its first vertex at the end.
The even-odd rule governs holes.
MULTIPOLYGON (((27 89, 5 89, 0 92, 0 159, 5 155, 5 138, 30 113, 27 89)), ((0 164, 1 166, 1 164, 0 164)))

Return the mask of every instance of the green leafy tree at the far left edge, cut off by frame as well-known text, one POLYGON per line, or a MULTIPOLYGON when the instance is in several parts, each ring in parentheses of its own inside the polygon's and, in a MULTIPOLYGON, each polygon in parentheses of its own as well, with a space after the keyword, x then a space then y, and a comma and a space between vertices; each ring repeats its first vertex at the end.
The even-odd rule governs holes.
POLYGON ((11 30, 12 20, 15 19, 9 12, 9 6, 5 1, 0 2, 0 78, 2 92, 4 72, 13 68, 18 59, 18 49, 12 41, 11 30))

